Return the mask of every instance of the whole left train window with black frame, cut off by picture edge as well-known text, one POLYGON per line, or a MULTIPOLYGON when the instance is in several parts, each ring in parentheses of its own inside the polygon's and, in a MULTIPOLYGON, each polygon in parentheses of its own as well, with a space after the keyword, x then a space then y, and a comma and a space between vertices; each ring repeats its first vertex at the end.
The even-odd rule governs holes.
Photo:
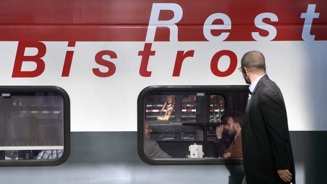
POLYGON ((55 166, 69 155, 70 102, 57 86, 0 86, 0 166, 55 166))

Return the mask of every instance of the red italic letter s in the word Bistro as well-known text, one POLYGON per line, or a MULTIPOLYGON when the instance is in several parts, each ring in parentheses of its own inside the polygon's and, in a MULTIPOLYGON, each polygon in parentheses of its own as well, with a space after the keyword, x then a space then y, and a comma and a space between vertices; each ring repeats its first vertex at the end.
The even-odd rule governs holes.
POLYGON ((99 68, 92 68, 92 72, 98 77, 110 77, 116 72, 116 66, 114 65, 114 63, 103 59, 103 56, 105 55, 109 56, 110 58, 117 58, 117 54, 113 51, 98 52, 95 57, 96 62, 108 68, 108 72, 101 72, 99 68))

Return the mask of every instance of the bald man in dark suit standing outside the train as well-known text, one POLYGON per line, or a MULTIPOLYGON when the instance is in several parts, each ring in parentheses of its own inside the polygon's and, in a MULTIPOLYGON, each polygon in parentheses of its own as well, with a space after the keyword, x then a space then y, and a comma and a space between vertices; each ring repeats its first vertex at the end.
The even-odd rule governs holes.
POLYGON ((287 114, 281 90, 266 74, 262 53, 242 57, 245 82, 251 96, 244 113, 242 146, 243 183, 295 183, 295 169, 287 114))

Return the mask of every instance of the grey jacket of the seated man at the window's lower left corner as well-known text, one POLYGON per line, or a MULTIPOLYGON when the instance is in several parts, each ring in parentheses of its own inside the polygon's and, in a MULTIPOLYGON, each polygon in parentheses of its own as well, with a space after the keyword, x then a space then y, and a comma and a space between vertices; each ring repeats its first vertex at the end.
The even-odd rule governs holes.
POLYGON ((150 158, 172 158, 159 147, 158 143, 151 139, 144 140, 144 152, 150 158))

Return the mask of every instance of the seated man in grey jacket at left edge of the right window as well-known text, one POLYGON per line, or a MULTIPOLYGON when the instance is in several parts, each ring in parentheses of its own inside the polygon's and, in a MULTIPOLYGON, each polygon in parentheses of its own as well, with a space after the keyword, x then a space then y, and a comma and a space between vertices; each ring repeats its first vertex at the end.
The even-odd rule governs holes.
POLYGON ((144 151, 150 158, 172 158, 169 154, 162 151, 158 143, 150 139, 150 133, 152 132, 149 123, 145 122, 145 138, 144 139, 144 151))

